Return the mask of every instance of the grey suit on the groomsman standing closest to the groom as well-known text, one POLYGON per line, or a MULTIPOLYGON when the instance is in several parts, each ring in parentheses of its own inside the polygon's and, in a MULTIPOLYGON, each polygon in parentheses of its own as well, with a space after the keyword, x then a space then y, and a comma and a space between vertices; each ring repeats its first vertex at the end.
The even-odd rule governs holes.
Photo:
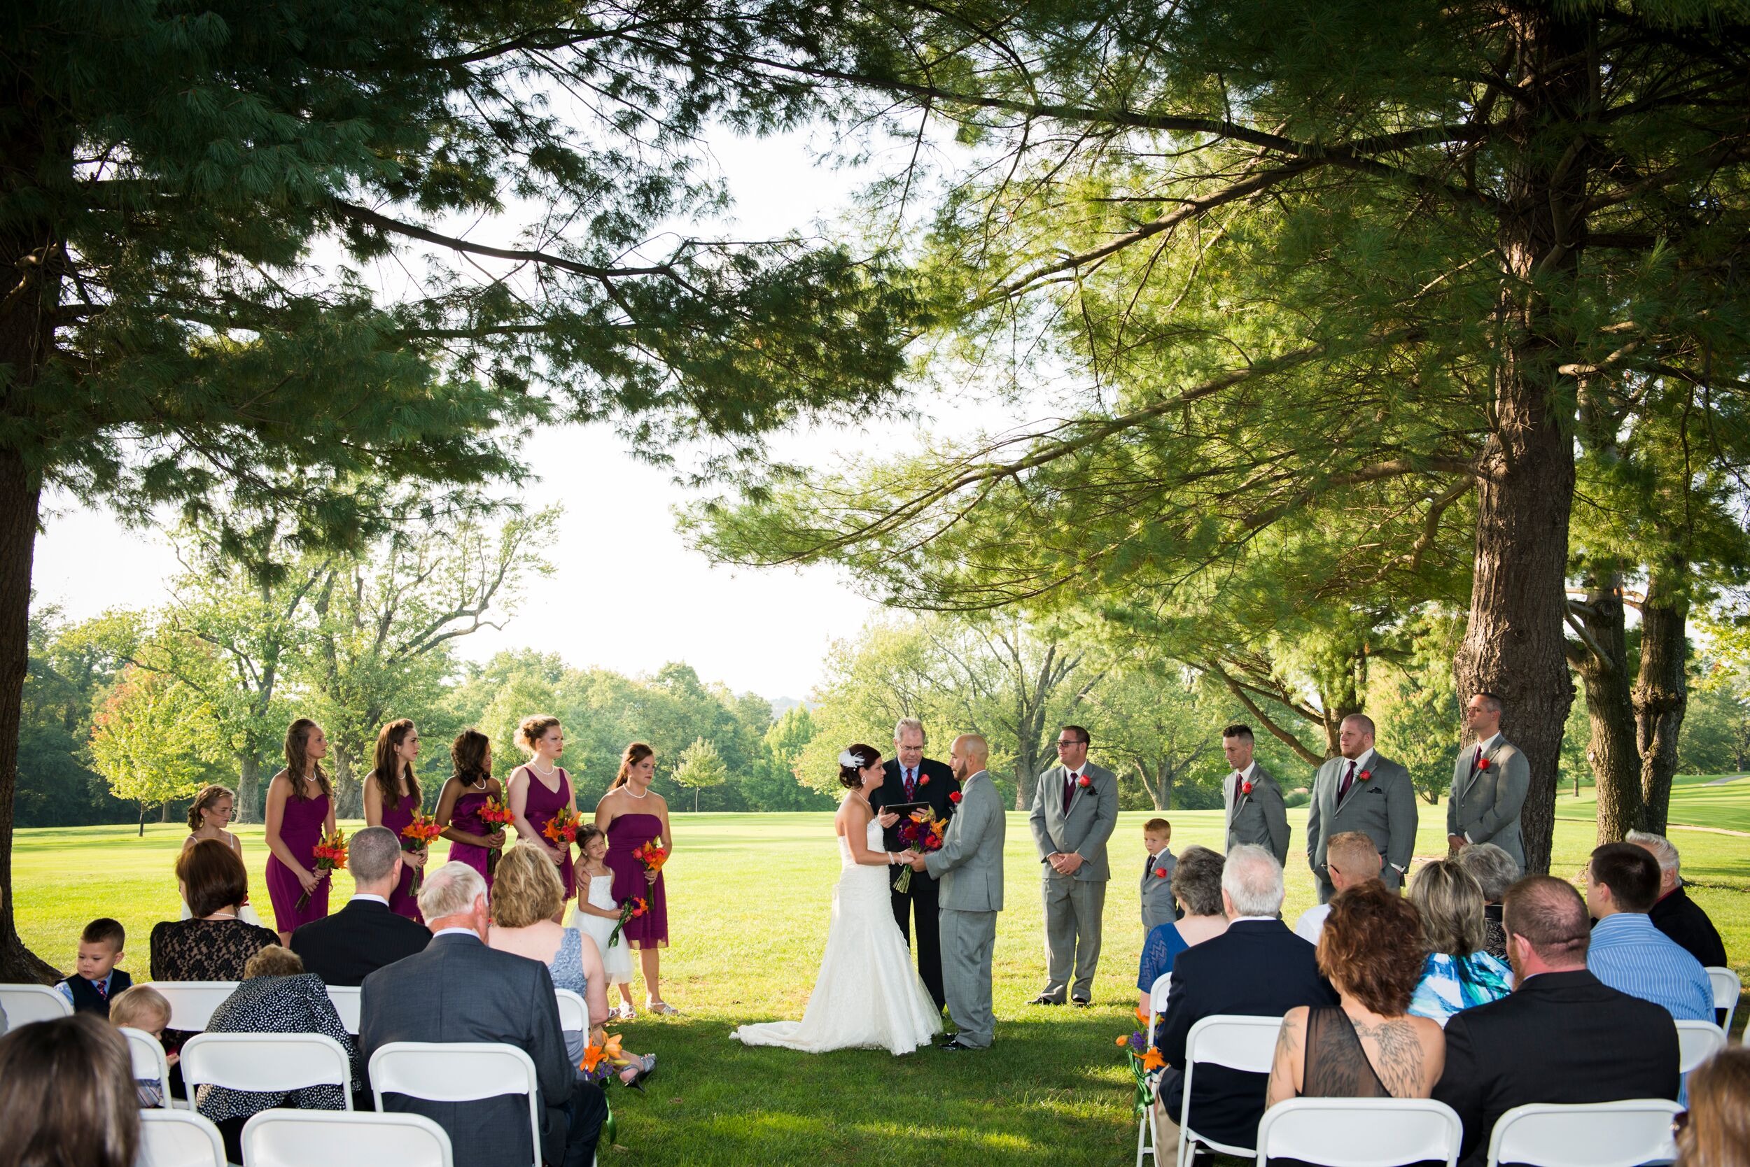
POLYGON ((1088 786, 1076 786, 1064 810, 1064 780, 1069 772, 1052 766, 1040 775, 1032 791, 1032 842, 1040 849, 1040 873, 1045 892, 1045 989, 1040 996, 1062 1001, 1064 990, 1076 1001, 1094 994, 1094 969, 1099 968, 1101 917, 1106 912, 1106 840, 1118 826, 1118 779, 1111 770, 1087 763, 1082 773, 1088 786), (1074 852, 1083 863, 1074 875, 1059 875, 1045 857, 1074 852), (1074 976, 1074 983, 1071 983, 1074 976))

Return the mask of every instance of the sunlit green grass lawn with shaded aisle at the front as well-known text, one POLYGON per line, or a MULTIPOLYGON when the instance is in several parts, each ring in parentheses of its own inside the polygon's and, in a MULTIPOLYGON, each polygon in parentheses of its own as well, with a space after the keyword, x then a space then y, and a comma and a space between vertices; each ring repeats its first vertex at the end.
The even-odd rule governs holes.
MULTIPOLYGON (((1591 793, 1563 796, 1558 873, 1573 875, 1592 847, 1591 793)), ((808 1057, 744 1050, 728 1032, 744 1020, 802 1017, 826 941, 838 854, 826 814, 677 814, 668 873, 670 938, 663 996, 681 1018, 621 1025, 634 1050, 654 1050, 662 1069, 642 1095, 616 1090, 620 1148, 604 1164, 914 1164, 990 1157, 1004 1164, 1122 1164, 1136 1153, 1129 1074, 1113 1039, 1132 1027, 1141 954, 1138 878, 1141 824, 1125 812, 1113 836, 1115 878, 1096 1008, 1027 1006, 1043 982, 1038 857, 1026 817, 1008 819, 1008 906, 996 948, 998 1034, 990 1052, 924 1050, 894 1059, 847 1050, 808 1057)), ((1222 845, 1222 812, 1174 812, 1174 850, 1222 845)), ((1673 794, 1673 821, 1750 828, 1750 780, 1673 794)), ((1293 849, 1306 810, 1292 810, 1293 849)), ((1418 854, 1446 852, 1444 808, 1421 805, 1418 854)), ((257 910, 266 905, 261 828, 242 828, 257 910)), ((147 975, 147 934, 178 912, 172 863, 186 831, 149 826, 19 831, 14 852, 19 929, 44 959, 70 968, 79 929, 98 915, 130 933, 122 968, 147 975)), ((1750 980, 1750 838, 1673 829, 1696 899, 1750 980)), ((1311 906, 1312 880, 1290 864, 1293 920, 1311 906)), ((336 877, 334 905, 350 894, 336 877)), ((640 997, 642 999, 642 997, 640 997)), ((1734 1029, 1745 1022, 1740 1008, 1734 1029)))

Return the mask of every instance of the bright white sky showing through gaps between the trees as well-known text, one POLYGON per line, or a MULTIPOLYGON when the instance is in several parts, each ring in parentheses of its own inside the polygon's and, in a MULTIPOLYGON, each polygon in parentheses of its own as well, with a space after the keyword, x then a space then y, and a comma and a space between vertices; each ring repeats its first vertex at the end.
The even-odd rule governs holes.
MULTIPOLYGON (((737 198, 742 238, 803 229, 830 219, 858 177, 816 166, 802 138, 723 140, 718 145, 737 198)), ((943 402, 950 411, 954 402, 943 402)), ((908 430, 845 430, 822 436, 819 462, 835 450, 892 448, 908 430)), ((910 443, 906 443, 910 444, 910 443)), ((796 453, 789 443, 786 457, 796 453)), ((896 450, 900 453, 900 450, 896 450)), ((562 502, 565 516, 551 562, 502 633, 462 639, 481 660, 500 647, 558 653, 578 667, 651 674, 684 660, 700 677, 768 698, 802 698, 821 677, 835 637, 852 637, 878 607, 835 569, 738 572, 712 569, 674 530, 672 507, 688 500, 668 474, 626 457, 607 427, 551 430, 523 457, 541 474, 527 502, 562 502)), ((149 607, 166 597, 177 563, 152 535, 121 528, 103 513, 56 500, 37 541, 37 604, 68 618, 110 607, 149 607)))

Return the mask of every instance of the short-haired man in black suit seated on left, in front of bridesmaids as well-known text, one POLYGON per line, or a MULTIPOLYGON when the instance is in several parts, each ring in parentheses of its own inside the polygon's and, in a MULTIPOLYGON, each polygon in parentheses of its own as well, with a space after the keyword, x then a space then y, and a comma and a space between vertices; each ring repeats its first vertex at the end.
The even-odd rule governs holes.
POLYGON ((362 985, 385 964, 424 952, 432 938, 424 924, 388 910, 402 870, 394 831, 368 826, 346 840, 346 870, 357 887, 346 906, 292 933, 292 952, 324 985, 362 985))

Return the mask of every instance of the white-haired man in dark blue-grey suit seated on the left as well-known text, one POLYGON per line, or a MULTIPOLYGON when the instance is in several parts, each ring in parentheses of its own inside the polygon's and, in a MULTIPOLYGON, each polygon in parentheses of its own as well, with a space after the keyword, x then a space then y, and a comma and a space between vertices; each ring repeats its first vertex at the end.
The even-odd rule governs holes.
MULTIPOLYGON (((504 878, 502 864, 499 871, 504 878)), ((466 863, 425 873, 420 913, 432 933, 425 952, 364 978, 359 1045, 366 1062, 390 1041, 513 1045, 536 1064, 542 1158, 588 1167, 607 1102, 565 1059, 546 964, 486 947, 486 880, 466 863)), ((536 1155, 525 1143, 528 1102, 518 1095, 430 1102, 385 1094, 383 1109, 430 1118, 450 1136, 457 1162, 471 1167, 525 1167, 536 1155)))

